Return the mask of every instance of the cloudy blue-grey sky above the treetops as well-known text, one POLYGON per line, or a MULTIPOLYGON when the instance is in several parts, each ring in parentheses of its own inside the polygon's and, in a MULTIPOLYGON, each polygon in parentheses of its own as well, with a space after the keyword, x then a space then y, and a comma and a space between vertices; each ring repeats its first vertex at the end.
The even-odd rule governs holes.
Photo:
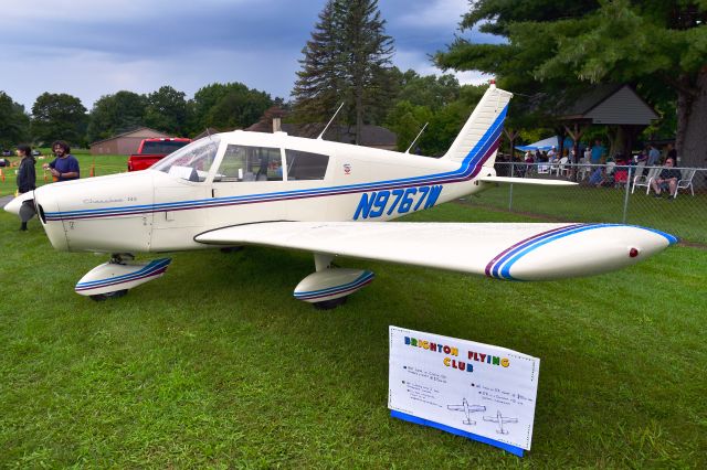
MULTIPOLYGON (((0 90, 29 110, 43 92, 86 108, 122 89, 162 85, 188 98, 242 82, 287 99, 325 0, 0 0, 0 90)), ((429 54, 460 34, 467 0, 380 0, 401 70, 440 74, 429 54)), ((496 42, 464 32, 465 38, 496 42)), ((456 74, 481 83, 478 73, 456 74)))

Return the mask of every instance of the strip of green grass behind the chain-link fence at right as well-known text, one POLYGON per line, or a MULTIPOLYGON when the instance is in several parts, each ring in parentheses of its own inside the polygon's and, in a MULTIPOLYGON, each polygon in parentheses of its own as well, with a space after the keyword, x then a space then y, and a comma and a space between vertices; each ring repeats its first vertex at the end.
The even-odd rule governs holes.
MULTIPOLYGON (((569 222, 623 222, 625 188, 549 188, 515 184, 514 212, 569 222)), ((475 206, 509 207, 508 185, 468 199, 475 206)), ((645 189, 629 195, 627 224, 658 228, 687 241, 707 244, 707 193, 680 192, 677 199, 655 199, 645 189)))

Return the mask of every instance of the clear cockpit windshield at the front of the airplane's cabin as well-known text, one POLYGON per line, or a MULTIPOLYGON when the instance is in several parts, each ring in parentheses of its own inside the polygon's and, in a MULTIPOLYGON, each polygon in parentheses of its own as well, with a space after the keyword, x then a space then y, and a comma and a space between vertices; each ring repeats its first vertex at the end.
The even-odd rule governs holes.
POLYGON ((182 147, 150 167, 188 181, 204 181, 219 151, 218 136, 204 137, 182 147))

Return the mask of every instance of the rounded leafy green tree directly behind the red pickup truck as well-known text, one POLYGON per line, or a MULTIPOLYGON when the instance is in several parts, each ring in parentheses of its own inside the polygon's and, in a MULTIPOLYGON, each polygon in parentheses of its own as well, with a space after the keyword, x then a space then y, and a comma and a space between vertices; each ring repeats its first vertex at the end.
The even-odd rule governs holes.
POLYGON ((188 108, 184 93, 162 86, 147 95, 145 125, 172 136, 187 133, 188 108))

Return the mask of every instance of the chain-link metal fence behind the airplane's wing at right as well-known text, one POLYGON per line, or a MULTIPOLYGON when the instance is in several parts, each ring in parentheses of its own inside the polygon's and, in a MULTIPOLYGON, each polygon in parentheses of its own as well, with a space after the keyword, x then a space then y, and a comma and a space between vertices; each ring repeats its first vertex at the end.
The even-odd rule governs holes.
POLYGON ((468 199, 490 206, 567 222, 605 222, 643 225, 678 236, 683 242, 707 245, 707 169, 680 168, 677 195, 652 182, 661 167, 612 163, 506 163, 497 162, 499 177, 563 179, 576 186, 503 184, 468 199))

